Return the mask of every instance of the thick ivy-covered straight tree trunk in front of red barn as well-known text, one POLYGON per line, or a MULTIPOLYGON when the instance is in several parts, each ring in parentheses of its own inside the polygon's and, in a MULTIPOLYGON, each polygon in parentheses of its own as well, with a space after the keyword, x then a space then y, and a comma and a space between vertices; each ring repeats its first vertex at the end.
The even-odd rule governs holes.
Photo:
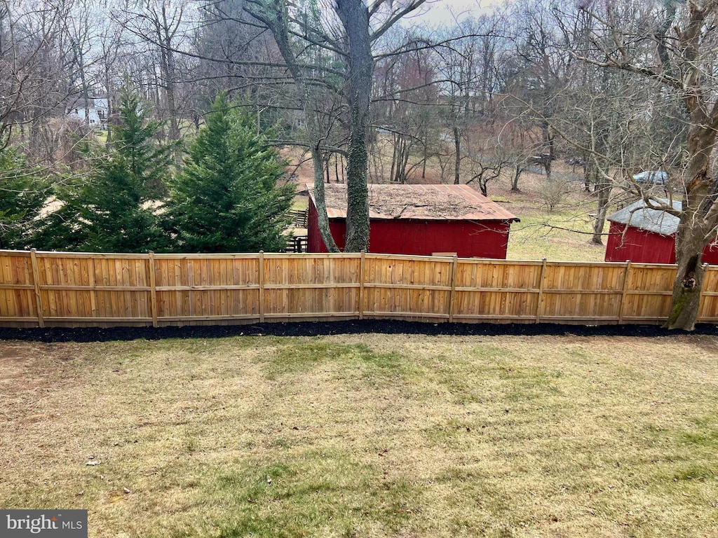
POLYGON ((348 101, 351 110, 347 157, 345 252, 369 250, 369 195, 366 186, 369 98, 374 71, 369 10, 361 0, 338 0, 337 15, 349 40, 348 101))

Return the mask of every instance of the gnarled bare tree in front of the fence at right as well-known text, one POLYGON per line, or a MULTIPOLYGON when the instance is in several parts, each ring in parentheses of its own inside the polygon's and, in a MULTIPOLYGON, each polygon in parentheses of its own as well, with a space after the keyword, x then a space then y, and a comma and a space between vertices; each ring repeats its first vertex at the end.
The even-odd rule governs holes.
MULTIPOLYGON (((644 2, 630 8, 633 16, 629 18, 612 4, 587 4, 572 12, 572 17, 588 14, 596 23, 589 35, 591 49, 575 51, 574 56, 653 82, 661 88, 656 99, 675 96, 684 106, 687 125, 681 164, 685 194, 681 209, 674 209, 665 199, 649 192, 643 192, 643 199, 648 207, 680 219, 676 238, 678 270, 666 326, 691 330, 698 316, 704 278, 701 254, 715 237, 718 225, 718 180, 712 163, 718 128, 714 74, 718 2, 644 2)), ((654 112, 651 105, 646 103, 646 114, 654 112)))

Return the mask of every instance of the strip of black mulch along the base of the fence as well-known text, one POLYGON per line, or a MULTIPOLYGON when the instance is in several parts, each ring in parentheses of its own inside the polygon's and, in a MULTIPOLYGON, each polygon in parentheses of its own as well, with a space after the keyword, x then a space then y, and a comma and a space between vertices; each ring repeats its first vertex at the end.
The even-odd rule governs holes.
MULTIPOLYGON (((365 319, 355 321, 306 321, 295 323, 264 323, 252 325, 214 325, 185 327, 97 327, 65 329, 4 329, 0 339, 42 342, 90 342, 111 340, 157 340, 166 338, 222 338, 224 336, 319 336, 324 334, 426 334, 450 336, 641 336, 655 338, 684 331, 667 331, 658 325, 559 325, 559 324, 449 324, 419 321, 365 319)), ((718 336, 718 327, 701 324, 692 334, 718 336)))

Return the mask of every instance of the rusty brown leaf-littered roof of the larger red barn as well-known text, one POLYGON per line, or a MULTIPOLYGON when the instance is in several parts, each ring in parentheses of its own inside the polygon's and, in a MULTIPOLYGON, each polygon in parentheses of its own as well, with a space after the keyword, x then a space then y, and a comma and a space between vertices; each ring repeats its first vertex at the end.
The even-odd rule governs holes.
MULTIPOLYGON (((516 215, 468 185, 368 185, 372 219, 509 220, 516 215)), ((307 184, 314 202, 314 185, 307 184)), ((346 218, 347 186, 325 184, 327 215, 346 218)), ((314 202, 316 204, 316 202, 314 202)))

